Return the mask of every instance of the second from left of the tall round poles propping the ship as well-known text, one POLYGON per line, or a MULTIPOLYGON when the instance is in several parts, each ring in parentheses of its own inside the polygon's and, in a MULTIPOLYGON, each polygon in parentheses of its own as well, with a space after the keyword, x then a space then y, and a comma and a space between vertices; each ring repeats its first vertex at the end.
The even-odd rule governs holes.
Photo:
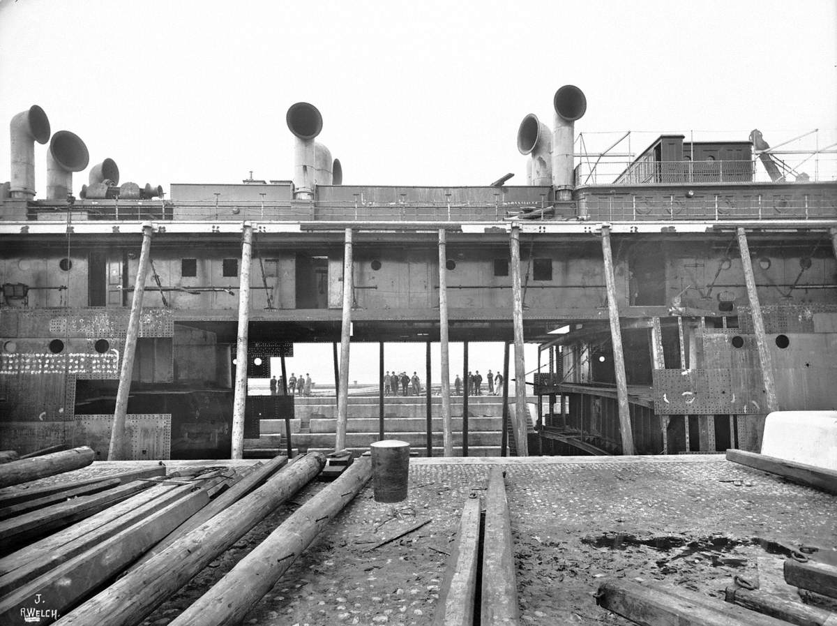
POLYGON ((253 260, 253 226, 242 224, 239 273, 239 334, 235 347, 235 393, 233 398, 233 444, 231 459, 244 458, 244 411, 247 403, 247 337, 250 323, 250 264, 253 260))

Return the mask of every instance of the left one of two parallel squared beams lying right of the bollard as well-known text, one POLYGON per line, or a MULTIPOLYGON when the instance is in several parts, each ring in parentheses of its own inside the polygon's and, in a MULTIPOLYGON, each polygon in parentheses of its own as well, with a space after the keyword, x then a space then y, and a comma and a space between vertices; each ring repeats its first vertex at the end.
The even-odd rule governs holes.
POLYGON ((462 508, 460 533, 445 570, 434 626, 471 626, 474 623, 479 549, 480 498, 471 497, 465 500, 462 508))

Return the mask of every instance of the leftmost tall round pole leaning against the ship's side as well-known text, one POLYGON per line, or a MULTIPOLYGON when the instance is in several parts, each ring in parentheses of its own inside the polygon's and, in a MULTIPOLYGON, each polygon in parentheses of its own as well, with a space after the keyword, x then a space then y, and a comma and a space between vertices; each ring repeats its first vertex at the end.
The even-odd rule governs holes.
POLYGON ((140 262, 136 268, 134 296, 131 300, 131 314, 122 348, 122 365, 119 374, 119 387, 116 389, 116 410, 113 413, 113 427, 110 428, 110 446, 107 458, 121 461, 127 458, 125 423, 128 417, 128 396, 131 394, 131 376, 134 372, 136 338, 140 334, 140 316, 142 314, 142 296, 146 291, 149 259, 151 258, 151 223, 142 224, 142 247, 140 262))

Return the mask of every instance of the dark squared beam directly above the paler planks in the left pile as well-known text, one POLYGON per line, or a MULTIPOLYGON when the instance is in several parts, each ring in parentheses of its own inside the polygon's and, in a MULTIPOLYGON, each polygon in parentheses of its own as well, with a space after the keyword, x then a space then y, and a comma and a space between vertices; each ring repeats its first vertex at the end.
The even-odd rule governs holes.
POLYGON ((22 516, 0 521, 0 539, 5 547, 32 541, 36 537, 42 537, 76 521, 84 520, 85 517, 93 516, 150 486, 150 482, 135 480, 100 494, 81 495, 73 500, 47 506, 40 511, 30 511, 22 516))

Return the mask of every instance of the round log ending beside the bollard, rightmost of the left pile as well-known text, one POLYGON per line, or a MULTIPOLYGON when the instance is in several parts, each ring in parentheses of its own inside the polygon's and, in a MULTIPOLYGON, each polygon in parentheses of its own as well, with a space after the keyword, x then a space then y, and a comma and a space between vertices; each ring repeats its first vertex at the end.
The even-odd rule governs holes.
POLYGON ((372 459, 356 459, 349 469, 294 511, 170 626, 239 623, 371 477, 372 459))

